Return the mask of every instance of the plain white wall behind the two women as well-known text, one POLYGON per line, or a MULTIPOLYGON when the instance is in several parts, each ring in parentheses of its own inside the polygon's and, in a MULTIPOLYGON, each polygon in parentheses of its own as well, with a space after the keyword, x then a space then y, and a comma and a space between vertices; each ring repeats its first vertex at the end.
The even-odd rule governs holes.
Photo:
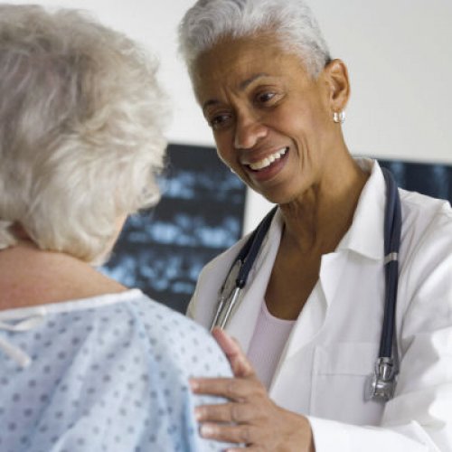
MULTIPOLYGON (((170 141, 213 146, 176 55, 176 27, 192 0, 35 3, 87 9, 153 49, 174 108, 170 141)), ((349 67, 353 90, 344 133, 352 153, 452 165, 452 1, 310 0, 310 5, 333 56, 349 67)), ((268 206, 250 193, 245 231, 268 206)))

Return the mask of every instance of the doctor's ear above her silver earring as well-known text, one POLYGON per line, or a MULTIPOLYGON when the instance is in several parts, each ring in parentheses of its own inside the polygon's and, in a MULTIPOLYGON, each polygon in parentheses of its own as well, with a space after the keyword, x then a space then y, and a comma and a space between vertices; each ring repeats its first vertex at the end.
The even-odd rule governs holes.
POLYGON ((343 111, 350 98, 350 81, 347 67, 342 60, 330 61, 322 73, 328 87, 331 111, 343 111))

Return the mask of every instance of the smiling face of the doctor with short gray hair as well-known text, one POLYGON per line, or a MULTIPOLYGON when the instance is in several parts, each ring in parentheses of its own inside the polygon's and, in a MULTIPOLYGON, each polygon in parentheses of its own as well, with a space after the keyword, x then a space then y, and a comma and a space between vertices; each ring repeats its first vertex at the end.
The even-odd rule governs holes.
POLYGON ((196 61, 193 86, 221 160, 271 202, 319 184, 334 146, 330 85, 271 35, 226 39, 196 61))

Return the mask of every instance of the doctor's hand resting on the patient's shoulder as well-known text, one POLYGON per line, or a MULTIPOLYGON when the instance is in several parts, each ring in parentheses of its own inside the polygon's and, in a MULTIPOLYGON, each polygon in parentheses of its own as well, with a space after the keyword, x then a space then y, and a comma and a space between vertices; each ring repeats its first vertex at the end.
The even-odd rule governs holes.
MULTIPOLYGON (((203 438, 243 443, 253 451, 315 452, 308 420, 279 408, 269 399, 254 369, 231 336, 220 328, 212 331, 231 363, 234 378, 193 378, 196 394, 217 395, 229 399, 219 405, 195 409, 203 438)), ((229 448, 227 452, 239 452, 229 448)))

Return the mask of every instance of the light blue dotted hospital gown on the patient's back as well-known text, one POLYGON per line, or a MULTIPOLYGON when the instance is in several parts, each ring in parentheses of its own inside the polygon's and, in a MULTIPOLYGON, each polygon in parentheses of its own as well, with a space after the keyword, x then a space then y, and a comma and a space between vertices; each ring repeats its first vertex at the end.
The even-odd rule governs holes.
POLYGON ((138 289, 0 311, 2 452, 211 451, 190 376, 231 375, 210 334, 138 289))

